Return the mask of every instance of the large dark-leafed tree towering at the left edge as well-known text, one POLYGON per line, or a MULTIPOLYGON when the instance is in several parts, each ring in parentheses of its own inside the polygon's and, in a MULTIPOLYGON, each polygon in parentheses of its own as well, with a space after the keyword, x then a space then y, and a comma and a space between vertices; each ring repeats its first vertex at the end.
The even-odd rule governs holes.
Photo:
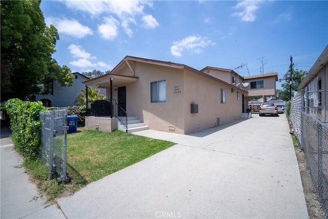
POLYGON ((1 99, 25 99, 44 78, 71 86, 73 75, 51 55, 59 39, 47 27, 41 1, 1 1, 1 99))

